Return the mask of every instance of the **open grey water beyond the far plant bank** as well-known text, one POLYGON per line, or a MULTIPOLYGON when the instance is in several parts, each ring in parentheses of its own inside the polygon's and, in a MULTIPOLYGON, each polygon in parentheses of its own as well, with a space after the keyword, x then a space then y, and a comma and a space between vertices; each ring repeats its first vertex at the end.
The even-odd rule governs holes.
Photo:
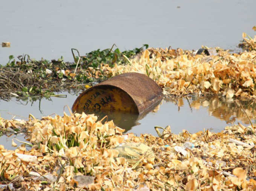
POLYGON ((72 61, 71 48, 82 55, 110 48, 169 47, 197 50, 201 45, 236 48, 242 32, 253 36, 255 0, 20 0, 0 6, 0 64, 8 56, 72 61))

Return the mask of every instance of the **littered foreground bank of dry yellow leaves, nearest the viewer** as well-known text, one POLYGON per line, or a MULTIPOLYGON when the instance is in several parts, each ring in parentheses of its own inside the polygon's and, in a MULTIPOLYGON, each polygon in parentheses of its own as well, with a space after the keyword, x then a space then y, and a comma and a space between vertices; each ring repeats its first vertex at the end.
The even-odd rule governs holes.
POLYGON ((187 131, 175 135, 167 126, 159 137, 123 135, 112 121, 92 115, 44 117, 2 126, 24 126, 34 146, 0 147, 1 185, 17 190, 236 190, 256 189, 256 138, 241 124, 219 133, 187 131), (154 158, 130 162, 114 148, 143 143, 154 158), (82 180, 86 180, 83 183, 82 180))

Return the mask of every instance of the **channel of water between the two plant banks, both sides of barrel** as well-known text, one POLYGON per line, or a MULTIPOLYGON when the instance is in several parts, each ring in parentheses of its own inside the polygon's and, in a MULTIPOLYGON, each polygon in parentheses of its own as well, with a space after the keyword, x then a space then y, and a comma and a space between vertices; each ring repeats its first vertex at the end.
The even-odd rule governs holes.
MULTIPOLYGON (((0 114, 5 119, 27 119, 29 113, 40 119, 42 116, 58 114, 63 116, 63 111, 69 114, 64 105, 70 108, 75 101, 77 94, 67 93, 67 98, 51 98, 49 101, 45 98, 35 102, 24 102, 12 99, 10 102, 1 101, 2 108, 0 114), (15 107, 13 107, 15 105, 15 107), (9 107, 11 106, 11 107, 9 107)), ((211 129, 214 132, 220 132, 227 125, 237 124, 238 122, 249 125, 250 121, 245 115, 243 105, 247 115, 253 123, 256 123, 256 102, 248 100, 231 99, 226 100, 223 97, 201 97, 201 98, 169 98, 164 99, 154 111, 141 118, 137 115, 126 113, 100 113, 99 119, 108 115, 108 120, 114 120, 114 123, 124 129, 126 132, 133 132, 137 135, 149 133, 157 136, 154 126, 171 126, 172 132, 178 134, 186 129, 189 132, 203 131, 211 129)), ((1 140, 0 140, 1 141, 1 140)), ((2 142, 2 141, 1 141, 2 142)))

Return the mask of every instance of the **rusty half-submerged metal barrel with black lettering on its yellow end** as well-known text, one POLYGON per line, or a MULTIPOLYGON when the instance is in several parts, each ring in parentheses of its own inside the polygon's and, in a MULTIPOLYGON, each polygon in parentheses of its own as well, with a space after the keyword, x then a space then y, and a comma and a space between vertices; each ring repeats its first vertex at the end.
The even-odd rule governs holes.
POLYGON ((153 108, 162 98, 162 89, 151 78, 130 72, 85 90, 74 102, 72 110, 122 110, 142 114, 153 108))

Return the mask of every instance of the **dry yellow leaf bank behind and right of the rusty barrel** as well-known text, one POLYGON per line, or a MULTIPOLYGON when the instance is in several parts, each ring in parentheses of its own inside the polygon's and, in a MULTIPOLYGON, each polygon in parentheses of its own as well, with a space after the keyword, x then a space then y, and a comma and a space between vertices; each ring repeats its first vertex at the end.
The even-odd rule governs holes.
MULTIPOLYGON (((256 37, 247 40, 256 45, 256 37)), ((130 64, 103 67, 115 76, 125 72, 148 75, 163 87, 165 95, 188 95, 192 93, 217 94, 233 97, 256 98, 256 51, 230 53, 215 48, 215 54, 206 56, 178 48, 148 48, 130 64)))

